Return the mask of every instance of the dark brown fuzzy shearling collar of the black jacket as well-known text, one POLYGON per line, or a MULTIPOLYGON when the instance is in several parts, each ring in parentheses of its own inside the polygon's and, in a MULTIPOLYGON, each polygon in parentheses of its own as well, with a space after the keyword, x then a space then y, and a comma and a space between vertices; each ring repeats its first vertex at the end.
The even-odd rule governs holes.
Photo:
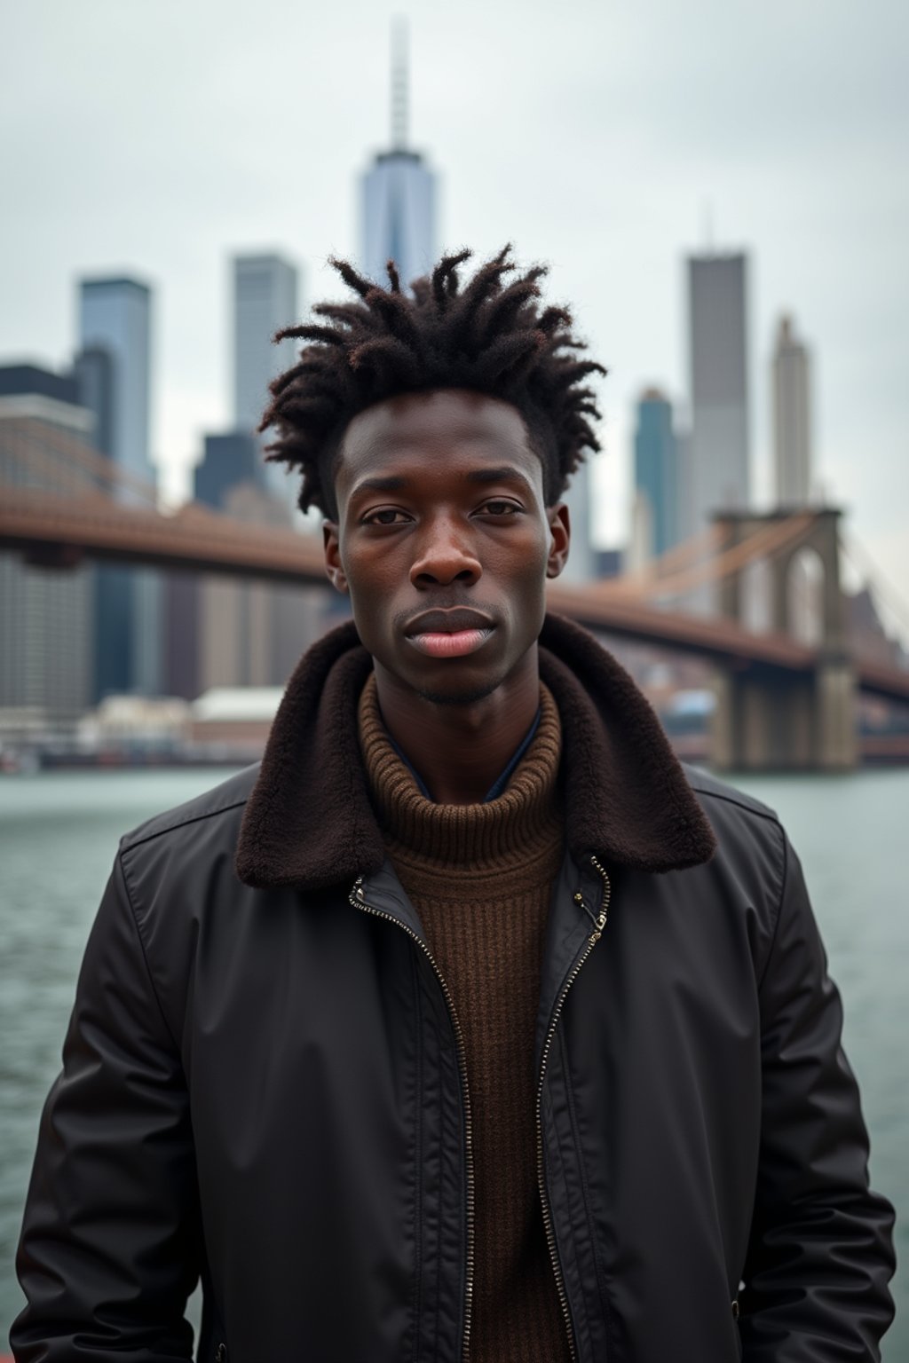
MULTIPOLYGON (((386 849, 357 739, 371 668, 353 623, 301 658, 243 818, 236 866, 247 885, 323 889, 380 868, 386 849)), ((641 871, 707 861, 710 825, 650 703, 612 654, 581 626, 548 615, 540 676, 561 716, 571 852, 641 871)))

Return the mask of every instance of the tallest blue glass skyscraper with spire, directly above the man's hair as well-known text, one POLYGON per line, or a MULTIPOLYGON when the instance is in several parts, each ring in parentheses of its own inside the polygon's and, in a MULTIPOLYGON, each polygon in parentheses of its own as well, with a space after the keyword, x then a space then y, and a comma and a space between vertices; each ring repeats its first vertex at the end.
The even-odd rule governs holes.
POLYGON ((391 149, 380 151, 361 183, 364 273, 384 281, 394 260, 402 284, 425 274, 436 255, 436 177, 407 147, 406 27, 392 29, 391 149))

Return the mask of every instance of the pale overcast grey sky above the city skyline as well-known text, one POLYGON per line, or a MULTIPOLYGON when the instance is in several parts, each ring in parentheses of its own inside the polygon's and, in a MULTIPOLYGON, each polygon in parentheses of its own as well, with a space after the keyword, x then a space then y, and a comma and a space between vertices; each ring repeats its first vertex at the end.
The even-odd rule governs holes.
MULTIPOLYGON (((909 7, 905 0, 29 0, 3 5, 0 363, 68 363, 75 279, 155 286, 166 485, 229 416, 228 259, 279 248, 305 298, 357 251, 356 181, 388 138, 392 14, 440 245, 552 264, 602 388, 598 527, 628 502, 632 405, 684 401, 683 258, 751 255, 752 463, 795 312, 816 465, 909 611, 909 7)), ((909 632, 909 631, 904 631, 909 632)))

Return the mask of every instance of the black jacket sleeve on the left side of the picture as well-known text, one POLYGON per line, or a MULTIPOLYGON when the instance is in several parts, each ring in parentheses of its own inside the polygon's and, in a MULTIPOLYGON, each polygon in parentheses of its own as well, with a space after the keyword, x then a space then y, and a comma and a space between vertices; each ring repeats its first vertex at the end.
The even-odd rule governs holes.
POLYGON ((41 1118, 16 1268, 16 1363, 188 1359, 198 1277, 189 1103, 120 859, 41 1118))

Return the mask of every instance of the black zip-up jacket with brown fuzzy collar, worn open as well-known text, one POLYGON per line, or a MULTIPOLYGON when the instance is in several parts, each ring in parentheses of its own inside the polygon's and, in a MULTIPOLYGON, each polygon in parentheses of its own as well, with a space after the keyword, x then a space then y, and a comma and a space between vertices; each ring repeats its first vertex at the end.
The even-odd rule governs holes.
MULTIPOLYGON (((799 861, 685 774, 634 683, 548 617, 567 853, 534 1066, 553 1273, 583 1363, 878 1359, 868 1190, 799 861)), ((45 1107, 19 1363, 458 1363, 473 1187, 457 1020, 367 792, 353 626, 260 770, 121 842, 45 1107)), ((507 1152, 503 1152, 507 1159, 507 1152)))

